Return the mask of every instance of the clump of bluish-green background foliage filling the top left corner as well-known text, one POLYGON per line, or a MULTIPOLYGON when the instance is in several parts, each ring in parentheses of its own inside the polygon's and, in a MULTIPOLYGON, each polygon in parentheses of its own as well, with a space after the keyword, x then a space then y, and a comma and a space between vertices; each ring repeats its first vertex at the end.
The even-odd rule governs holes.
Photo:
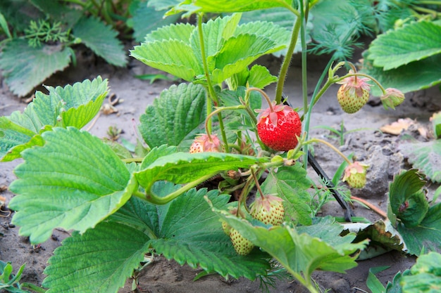
POLYGON ((75 64, 79 44, 107 63, 124 67, 127 53, 121 39, 139 40, 163 19, 160 1, 42 1, 5 0, 0 4, 0 68, 6 84, 25 96, 54 72, 75 64), (157 2, 155 4, 155 2, 157 2), (158 10, 158 11, 157 11, 158 10))

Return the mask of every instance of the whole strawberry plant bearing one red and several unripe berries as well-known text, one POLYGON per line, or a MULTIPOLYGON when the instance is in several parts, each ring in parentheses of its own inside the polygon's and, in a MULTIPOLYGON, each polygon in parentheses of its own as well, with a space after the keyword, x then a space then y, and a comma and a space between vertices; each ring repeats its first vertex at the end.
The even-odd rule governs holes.
MULTIPOLYGON (((20 234, 37 244, 54 228, 73 230, 44 271, 48 293, 117 292, 146 254, 200 267, 204 274, 263 282, 282 266, 310 292, 318 292, 313 271, 343 273, 356 266, 366 237, 357 239, 335 218, 318 217, 311 208, 311 193, 320 190, 311 190, 310 163, 347 221, 354 216, 308 150, 312 143, 335 148, 309 137, 311 111, 333 84, 352 84, 342 94, 349 103, 355 100, 357 109, 373 86, 390 108, 399 104, 401 92, 384 89, 352 63, 337 62, 342 52, 336 51, 311 100, 305 90, 303 105, 285 105, 287 68, 299 44, 306 58, 309 15, 320 15, 332 2, 195 0, 173 6, 167 14, 195 14, 197 22, 154 30, 130 55, 186 82, 170 86, 147 107, 135 152, 81 130, 108 94, 101 77, 48 86, 48 93, 37 91, 23 112, 0 117, 1 160, 23 159, 14 171, 17 180, 10 189, 16 196, 9 203, 20 234), (291 14, 292 29, 241 22, 242 13, 272 8, 291 14), (204 22, 206 13, 226 15, 204 22), (277 77, 254 64, 282 49, 277 77), (273 82, 275 96, 269 98, 264 88, 273 82)), ((344 27, 340 22, 334 28, 353 40, 355 28, 344 27)), ((367 167, 344 160, 344 180, 361 188, 367 167)), ((439 250, 420 226, 440 230, 433 219, 440 205, 424 202, 421 174, 407 174, 391 185, 391 223, 400 233, 415 230, 421 240, 430 240, 430 249, 439 250), (400 189, 404 183, 409 188, 400 189), (402 207, 406 202, 409 210, 402 207)), ((421 242, 404 241, 411 254, 421 248, 421 242)))

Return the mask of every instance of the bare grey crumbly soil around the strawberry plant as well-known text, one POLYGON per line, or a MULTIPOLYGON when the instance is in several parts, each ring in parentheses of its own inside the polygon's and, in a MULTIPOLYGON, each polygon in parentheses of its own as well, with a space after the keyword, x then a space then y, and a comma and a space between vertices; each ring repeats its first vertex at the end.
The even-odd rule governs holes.
MULTIPOLYGON (((297 56, 296 60, 298 59, 297 56)), ((273 74, 277 74, 280 66, 279 59, 266 57, 259 61, 267 65, 273 74)), ((308 72, 309 96, 313 92, 313 87, 325 67, 326 61, 325 57, 316 56, 311 56, 308 60, 310 69, 308 72)), ((123 131, 120 139, 124 138, 135 143, 137 137, 135 126, 139 123, 139 116, 144 113, 147 105, 150 105, 154 98, 159 96, 163 89, 167 89, 172 82, 158 80, 150 84, 148 81, 136 79, 135 74, 159 73, 137 60, 131 60, 128 68, 116 68, 107 65, 103 60, 94 57, 88 51, 82 51, 77 55, 77 62, 77 67, 69 67, 64 72, 54 74, 45 84, 65 86, 66 84, 82 82, 84 79, 93 79, 98 75, 108 79, 111 93, 120 99, 120 103, 116 105, 118 112, 111 115, 101 114, 97 122, 91 126, 90 131, 96 136, 105 137, 107 136, 108 127, 116 126, 123 131)), ((290 103, 299 108, 302 107, 300 80, 300 67, 294 62, 288 75, 285 94, 289 97, 290 103)), ((337 89, 337 86, 332 86, 318 102, 313 111, 311 126, 328 125, 338 129, 343 121, 345 129, 348 131, 364 128, 364 130, 347 134, 345 143, 340 147, 340 150, 345 155, 354 152, 359 160, 371 166, 368 170, 369 183, 361 190, 353 190, 353 195, 362 197, 385 210, 389 182, 392 181, 394 174, 397 174, 400 169, 409 168, 409 166, 406 165, 406 159, 397 150, 399 137, 383 134, 378 129, 380 126, 395 122, 402 117, 416 119, 423 126, 428 124, 430 115, 441 108, 440 91, 439 89, 428 89, 409 93, 406 95, 404 104, 395 111, 384 110, 379 98, 371 97, 368 105, 361 111, 349 115, 340 110, 335 98, 337 89)), ((39 90, 44 91, 44 88, 39 88, 39 90)), ((270 86, 267 91, 271 96, 274 88, 270 86)), ((108 100, 105 100, 104 103, 108 103, 108 100)), ((25 107, 25 99, 13 96, 2 81, 0 115, 10 115, 14 110, 23 111, 25 107)), ((312 136, 325 138, 334 145, 338 145, 337 141, 328 138, 329 134, 330 132, 325 129, 316 128, 311 130, 312 136)), ((315 154, 323 169, 328 175, 333 176, 342 159, 325 146, 316 146, 315 154)), ((6 204, 14 196, 7 187, 15 180, 13 168, 19 163, 20 160, 0 163, 0 195, 6 197, 6 204), (4 188, 1 189, 1 186, 4 186, 4 188)), ((315 177, 316 174, 311 171, 311 176, 315 177)), ((435 186, 429 189, 429 197, 433 196, 433 190, 435 190, 435 186)), ((355 203, 353 208, 356 216, 364 216, 370 221, 380 219, 378 214, 362 207, 360 204, 355 203)), ((327 204, 321 214, 343 216, 342 209, 335 202, 327 204)), ((32 282, 40 285, 45 277, 43 271, 47 266, 47 260, 54 249, 61 245, 62 240, 68 237, 69 233, 63 230, 54 230, 51 239, 38 247, 32 247, 27 237, 18 235, 19 228, 11 224, 12 216, 13 213, 11 216, 0 218, 0 259, 11 261, 15 271, 20 265, 26 263, 22 282, 32 282)), ((369 268, 390 266, 389 269, 378 274, 380 280, 385 284, 388 280, 392 280, 398 271, 410 268, 414 261, 413 256, 390 252, 373 259, 359 261, 359 266, 347 271, 346 274, 318 272, 314 275, 314 278, 323 289, 330 289, 330 292, 368 292, 366 278, 369 268)), ((158 257, 151 266, 142 271, 139 277, 139 288, 151 293, 261 292, 259 281, 251 282, 246 279, 225 280, 218 275, 209 275, 194 282, 194 276, 200 271, 188 266, 180 266, 173 260, 169 261, 163 257, 158 257)), ((132 292, 131 284, 131 280, 128 280, 125 287, 120 289, 119 292, 132 292)), ((301 293, 306 292, 306 290, 293 280, 281 280, 277 282, 274 289, 271 289, 271 292, 301 293)), ((325 291, 323 290, 323 292, 325 291)))

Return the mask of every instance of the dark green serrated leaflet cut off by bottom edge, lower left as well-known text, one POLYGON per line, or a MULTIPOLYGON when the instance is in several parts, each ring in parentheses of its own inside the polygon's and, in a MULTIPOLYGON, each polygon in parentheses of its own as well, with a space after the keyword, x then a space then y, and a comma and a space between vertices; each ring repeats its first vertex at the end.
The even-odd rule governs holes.
POLYGON ((129 223, 106 221, 62 244, 44 269, 46 292, 111 293, 144 261, 149 237, 129 223))

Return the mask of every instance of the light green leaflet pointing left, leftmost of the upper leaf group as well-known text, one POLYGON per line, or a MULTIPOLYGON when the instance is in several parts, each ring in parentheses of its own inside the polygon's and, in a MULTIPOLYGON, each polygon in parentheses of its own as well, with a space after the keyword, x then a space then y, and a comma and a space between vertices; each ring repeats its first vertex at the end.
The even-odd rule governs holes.
POLYGON ((130 56, 150 67, 168 72, 190 82, 203 74, 202 65, 184 41, 163 40, 142 43, 130 50, 130 56))

